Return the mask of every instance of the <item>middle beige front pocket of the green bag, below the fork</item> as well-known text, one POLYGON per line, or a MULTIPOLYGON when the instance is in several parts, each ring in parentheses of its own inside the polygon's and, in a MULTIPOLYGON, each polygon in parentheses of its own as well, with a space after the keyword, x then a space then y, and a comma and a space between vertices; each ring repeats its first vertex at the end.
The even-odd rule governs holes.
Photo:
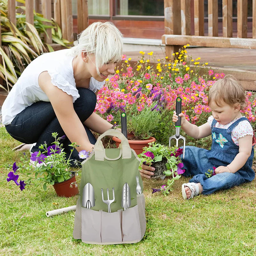
POLYGON ((122 210, 117 212, 101 212, 102 243, 122 242, 122 210))

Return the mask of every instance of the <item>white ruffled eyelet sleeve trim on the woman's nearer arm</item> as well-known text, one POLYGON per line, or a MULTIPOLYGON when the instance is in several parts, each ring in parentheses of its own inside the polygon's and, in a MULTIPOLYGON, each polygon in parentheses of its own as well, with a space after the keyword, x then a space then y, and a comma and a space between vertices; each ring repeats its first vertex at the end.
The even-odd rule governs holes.
POLYGON ((53 85, 57 86, 63 92, 66 92, 68 95, 72 95, 73 103, 80 97, 78 90, 76 89, 75 79, 67 81, 67 79, 56 71, 48 71, 48 73, 51 76, 51 82, 53 85))

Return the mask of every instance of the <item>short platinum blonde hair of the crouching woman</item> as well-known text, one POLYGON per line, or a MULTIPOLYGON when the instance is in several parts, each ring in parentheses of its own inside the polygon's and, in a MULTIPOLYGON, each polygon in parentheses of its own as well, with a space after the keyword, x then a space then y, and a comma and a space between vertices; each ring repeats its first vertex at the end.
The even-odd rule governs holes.
POLYGON ((78 35, 78 45, 71 48, 70 55, 76 57, 82 52, 95 55, 95 66, 99 68, 108 62, 119 62, 123 53, 122 33, 112 22, 94 22, 78 35))

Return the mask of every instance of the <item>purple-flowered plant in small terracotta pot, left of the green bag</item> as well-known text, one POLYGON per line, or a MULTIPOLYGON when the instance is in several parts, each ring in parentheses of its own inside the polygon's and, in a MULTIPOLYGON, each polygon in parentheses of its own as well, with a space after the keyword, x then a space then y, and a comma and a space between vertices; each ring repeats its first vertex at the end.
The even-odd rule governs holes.
MULTIPOLYGON (((58 196, 74 196, 79 193, 76 184, 76 175, 79 169, 71 170, 70 156, 78 145, 75 142, 69 145, 73 148, 67 158, 62 144, 60 144, 60 140, 64 139, 65 135, 57 138, 58 133, 53 132, 52 136, 55 138, 52 146, 41 145, 39 148, 42 151, 34 152, 30 157, 23 153, 24 156, 20 158, 20 166, 16 162, 12 167, 9 165, 8 169, 11 171, 8 173, 7 181, 13 180, 17 186, 20 186, 21 191, 28 185, 43 185, 44 190, 47 189, 47 185, 53 185, 58 196), (21 177, 24 177, 25 180, 21 180, 21 177)), ((89 154, 90 152, 82 150, 79 152, 79 157, 84 159, 89 154)), ((76 160, 74 162, 78 166, 79 162, 76 160)))

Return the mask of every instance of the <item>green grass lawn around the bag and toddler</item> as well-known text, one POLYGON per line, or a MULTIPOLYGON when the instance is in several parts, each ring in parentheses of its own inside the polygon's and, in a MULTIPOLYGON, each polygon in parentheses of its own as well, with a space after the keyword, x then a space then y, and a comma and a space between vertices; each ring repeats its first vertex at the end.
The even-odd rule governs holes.
MULTIPOLYGON (((75 212, 45 212, 76 204, 53 187, 22 192, 7 183, 6 164, 20 159, 18 141, 0 128, 0 255, 256 255, 256 181, 184 201, 180 178, 171 195, 151 194, 164 181, 143 180, 147 230, 137 244, 90 245, 72 236, 75 212), (58 203, 59 205, 54 205, 58 203)), ((255 158, 254 158, 255 160, 255 158)), ((254 161, 255 163, 255 161, 254 161)))

